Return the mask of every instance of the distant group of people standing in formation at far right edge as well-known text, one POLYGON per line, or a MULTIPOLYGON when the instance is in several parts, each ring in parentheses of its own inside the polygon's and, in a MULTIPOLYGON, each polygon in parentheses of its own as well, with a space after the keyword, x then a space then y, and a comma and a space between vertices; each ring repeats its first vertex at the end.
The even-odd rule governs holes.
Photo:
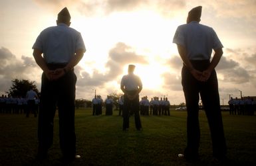
POLYGON ((232 97, 229 100, 229 114, 241 114, 241 115, 254 115, 256 110, 256 101, 253 98, 247 97, 233 99, 232 97))

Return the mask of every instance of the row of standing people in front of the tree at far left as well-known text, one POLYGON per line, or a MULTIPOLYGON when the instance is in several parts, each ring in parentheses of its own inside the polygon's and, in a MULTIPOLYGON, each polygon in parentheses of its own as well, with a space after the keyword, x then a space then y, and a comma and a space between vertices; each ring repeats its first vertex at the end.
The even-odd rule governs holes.
POLYGON ((27 117, 32 113, 37 117, 39 103, 39 97, 33 90, 28 91, 25 98, 2 95, 0 97, 0 113, 26 114, 27 117))

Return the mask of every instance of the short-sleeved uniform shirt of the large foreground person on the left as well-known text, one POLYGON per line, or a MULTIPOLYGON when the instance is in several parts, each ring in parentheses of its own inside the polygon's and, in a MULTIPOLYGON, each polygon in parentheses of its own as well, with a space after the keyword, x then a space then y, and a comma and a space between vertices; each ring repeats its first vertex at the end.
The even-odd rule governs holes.
POLYGON ((33 49, 41 50, 47 63, 68 63, 76 50, 86 50, 80 32, 63 23, 43 30, 33 49))

